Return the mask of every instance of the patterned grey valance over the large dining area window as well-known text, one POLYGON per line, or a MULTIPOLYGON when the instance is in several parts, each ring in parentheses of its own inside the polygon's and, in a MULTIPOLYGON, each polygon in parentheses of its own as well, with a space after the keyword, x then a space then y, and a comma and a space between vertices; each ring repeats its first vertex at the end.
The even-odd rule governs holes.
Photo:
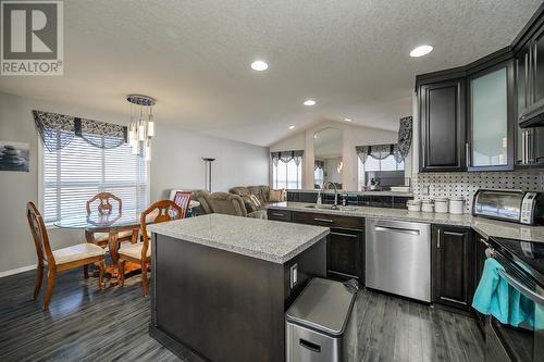
POLYGON ((126 127, 71 115, 33 111, 34 122, 49 151, 66 147, 74 136, 98 148, 115 148, 126 142, 126 127))

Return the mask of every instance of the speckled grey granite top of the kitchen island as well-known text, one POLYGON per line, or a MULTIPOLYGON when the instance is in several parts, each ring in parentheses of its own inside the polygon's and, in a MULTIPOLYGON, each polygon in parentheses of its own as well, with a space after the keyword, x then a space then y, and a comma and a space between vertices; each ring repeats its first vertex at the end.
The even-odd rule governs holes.
POLYGON ((208 214, 149 225, 148 230, 283 264, 326 235, 329 227, 208 214))

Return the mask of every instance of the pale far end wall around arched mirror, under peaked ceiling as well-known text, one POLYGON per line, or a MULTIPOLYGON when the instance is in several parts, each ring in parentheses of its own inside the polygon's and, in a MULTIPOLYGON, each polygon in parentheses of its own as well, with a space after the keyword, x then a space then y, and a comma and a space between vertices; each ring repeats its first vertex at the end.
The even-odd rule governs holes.
POLYGON ((342 183, 345 190, 357 190, 359 165, 355 150, 356 146, 396 143, 398 141, 398 132, 358 126, 347 122, 323 122, 270 146, 271 151, 305 151, 302 157, 302 188, 305 189, 313 188, 313 135, 329 127, 343 130, 344 168, 342 183))

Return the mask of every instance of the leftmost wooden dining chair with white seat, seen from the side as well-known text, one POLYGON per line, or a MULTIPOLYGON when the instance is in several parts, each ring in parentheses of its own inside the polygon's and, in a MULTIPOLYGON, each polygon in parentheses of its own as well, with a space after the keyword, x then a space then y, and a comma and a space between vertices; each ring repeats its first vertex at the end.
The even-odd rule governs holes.
POLYGON ((106 267, 104 254, 106 251, 94 244, 77 244, 72 247, 51 250, 49 244, 49 235, 47 234, 44 219, 39 213, 34 202, 28 202, 26 205, 26 217, 36 247, 36 254, 38 257, 36 287, 34 288, 33 299, 36 300, 41 288, 44 280, 44 267, 47 265, 47 291, 44 298, 44 309, 49 308, 49 302, 53 295, 57 273, 70 269, 84 266, 84 277, 88 278, 87 265, 95 264, 99 269, 98 284, 99 288, 103 289, 103 273, 106 267))

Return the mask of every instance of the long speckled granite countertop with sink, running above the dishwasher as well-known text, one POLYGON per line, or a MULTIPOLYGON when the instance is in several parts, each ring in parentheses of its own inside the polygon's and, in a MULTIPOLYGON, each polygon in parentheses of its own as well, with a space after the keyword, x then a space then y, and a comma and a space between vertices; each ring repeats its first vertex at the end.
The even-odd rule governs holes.
MULTIPOLYGON (((454 215, 434 212, 415 212, 406 209, 386 209, 369 207, 346 207, 344 210, 324 210, 307 208, 305 202, 277 202, 268 208, 293 211, 306 211, 323 214, 359 216, 366 219, 387 219, 417 223, 441 224, 472 227, 483 237, 504 237, 524 241, 544 242, 544 226, 527 226, 508 222, 472 216, 471 214, 454 215)), ((342 207, 341 207, 342 208, 342 207)))

